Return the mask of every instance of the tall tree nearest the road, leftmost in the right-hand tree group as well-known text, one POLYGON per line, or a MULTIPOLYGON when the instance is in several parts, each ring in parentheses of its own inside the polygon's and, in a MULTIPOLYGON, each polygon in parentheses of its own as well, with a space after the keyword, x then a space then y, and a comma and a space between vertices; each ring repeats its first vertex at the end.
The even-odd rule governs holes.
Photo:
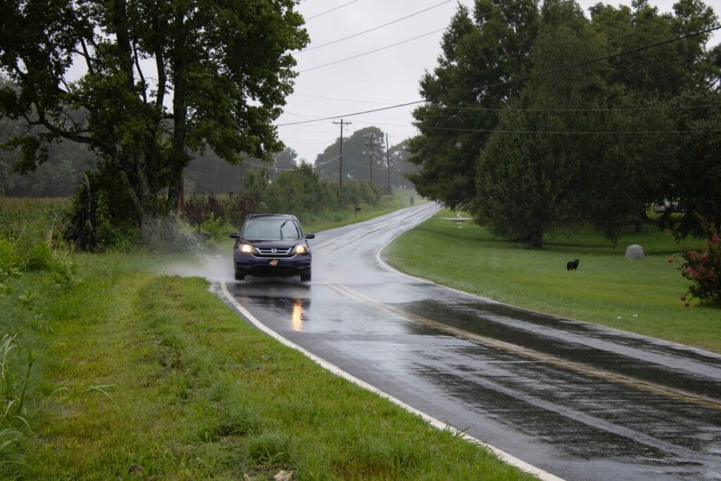
POLYGON ((412 138, 410 175, 418 192, 451 208, 475 197, 474 162, 524 74, 536 36, 536 0, 477 0, 474 18, 459 6, 443 34, 438 67, 420 81, 427 102, 413 115, 421 135, 412 138))

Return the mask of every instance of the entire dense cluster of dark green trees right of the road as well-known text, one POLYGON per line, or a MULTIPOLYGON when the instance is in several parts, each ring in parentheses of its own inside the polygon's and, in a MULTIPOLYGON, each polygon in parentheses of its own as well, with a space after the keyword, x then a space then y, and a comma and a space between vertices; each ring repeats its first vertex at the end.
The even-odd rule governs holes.
POLYGON ((666 219, 679 236, 699 233, 699 216, 718 225, 721 48, 704 32, 716 26, 699 0, 673 14, 597 4, 590 18, 571 0, 479 1, 473 20, 460 6, 420 82, 412 180, 534 247, 586 222, 615 239, 663 200, 686 209, 666 219))

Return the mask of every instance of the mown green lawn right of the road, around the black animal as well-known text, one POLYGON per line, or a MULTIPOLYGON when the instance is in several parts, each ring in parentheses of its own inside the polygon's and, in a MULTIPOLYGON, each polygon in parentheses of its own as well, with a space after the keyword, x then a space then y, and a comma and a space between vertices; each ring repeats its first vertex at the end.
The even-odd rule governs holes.
POLYGON ((616 327, 721 352, 719 309, 679 296, 688 281, 668 257, 678 252, 670 235, 653 227, 624 235, 616 247, 601 234, 584 231, 548 239, 529 250, 495 239, 474 224, 435 218, 408 231, 384 250, 388 262, 411 275, 497 301, 562 317, 616 327), (641 244, 644 260, 624 258, 641 244), (566 262, 578 257, 578 271, 566 262))

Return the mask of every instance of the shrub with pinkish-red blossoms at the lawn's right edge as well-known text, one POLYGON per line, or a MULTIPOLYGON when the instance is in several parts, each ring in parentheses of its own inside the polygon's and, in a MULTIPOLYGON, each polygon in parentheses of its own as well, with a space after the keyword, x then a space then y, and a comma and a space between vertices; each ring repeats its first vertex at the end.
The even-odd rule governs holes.
POLYGON ((686 307, 694 297, 721 304, 721 240, 713 224, 709 234, 709 244, 701 252, 684 249, 668 260, 678 263, 681 275, 693 282, 681 296, 686 307))

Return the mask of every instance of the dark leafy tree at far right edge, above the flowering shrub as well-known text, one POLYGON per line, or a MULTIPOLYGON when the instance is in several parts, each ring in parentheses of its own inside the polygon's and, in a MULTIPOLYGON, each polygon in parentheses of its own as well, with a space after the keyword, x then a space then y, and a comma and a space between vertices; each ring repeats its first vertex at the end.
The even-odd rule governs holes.
MULTIPOLYGON (((673 14, 661 14, 647 1, 636 1, 631 8, 598 4, 590 12, 593 28, 606 39, 611 52, 664 42, 717 25, 712 9, 699 0, 678 1, 673 14)), ((720 71, 714 58, 721 50, 708 50, 708 40, 709 34, 694 35, 609 62, 609 84, 614 86, 611 106, 654 109, 614 114, 614 130, 668 133, 628 135, 607 143, 606 162, 601 163, 608 167, 606 175, 596 178, 610 182, 596 193, 606 193, 614 202, 608 204, 611 208, 606 214, 596 211, 597 225, 608 230, 609 220, 624 208, 626 212, 635 210, 638 225, 649 203, 683 199, 687 206, 683 221, 675 224, 676 217, 668 217, 668 224, 680 236, 699 232, 696 214, 707 216, 709 211, 696 211, 704 202, 692 199, 710 199, 716 189, 696 190, 699 182, 694 177, 702 170, 712 172, 704 168, 702 159, 707 156, 704 153, 716 149, 713 130, 719 128, 717 109, 708 106, 717 104, 714 92, 720 71)), ((593 175, 590 170, 587 173, 593 175)))

